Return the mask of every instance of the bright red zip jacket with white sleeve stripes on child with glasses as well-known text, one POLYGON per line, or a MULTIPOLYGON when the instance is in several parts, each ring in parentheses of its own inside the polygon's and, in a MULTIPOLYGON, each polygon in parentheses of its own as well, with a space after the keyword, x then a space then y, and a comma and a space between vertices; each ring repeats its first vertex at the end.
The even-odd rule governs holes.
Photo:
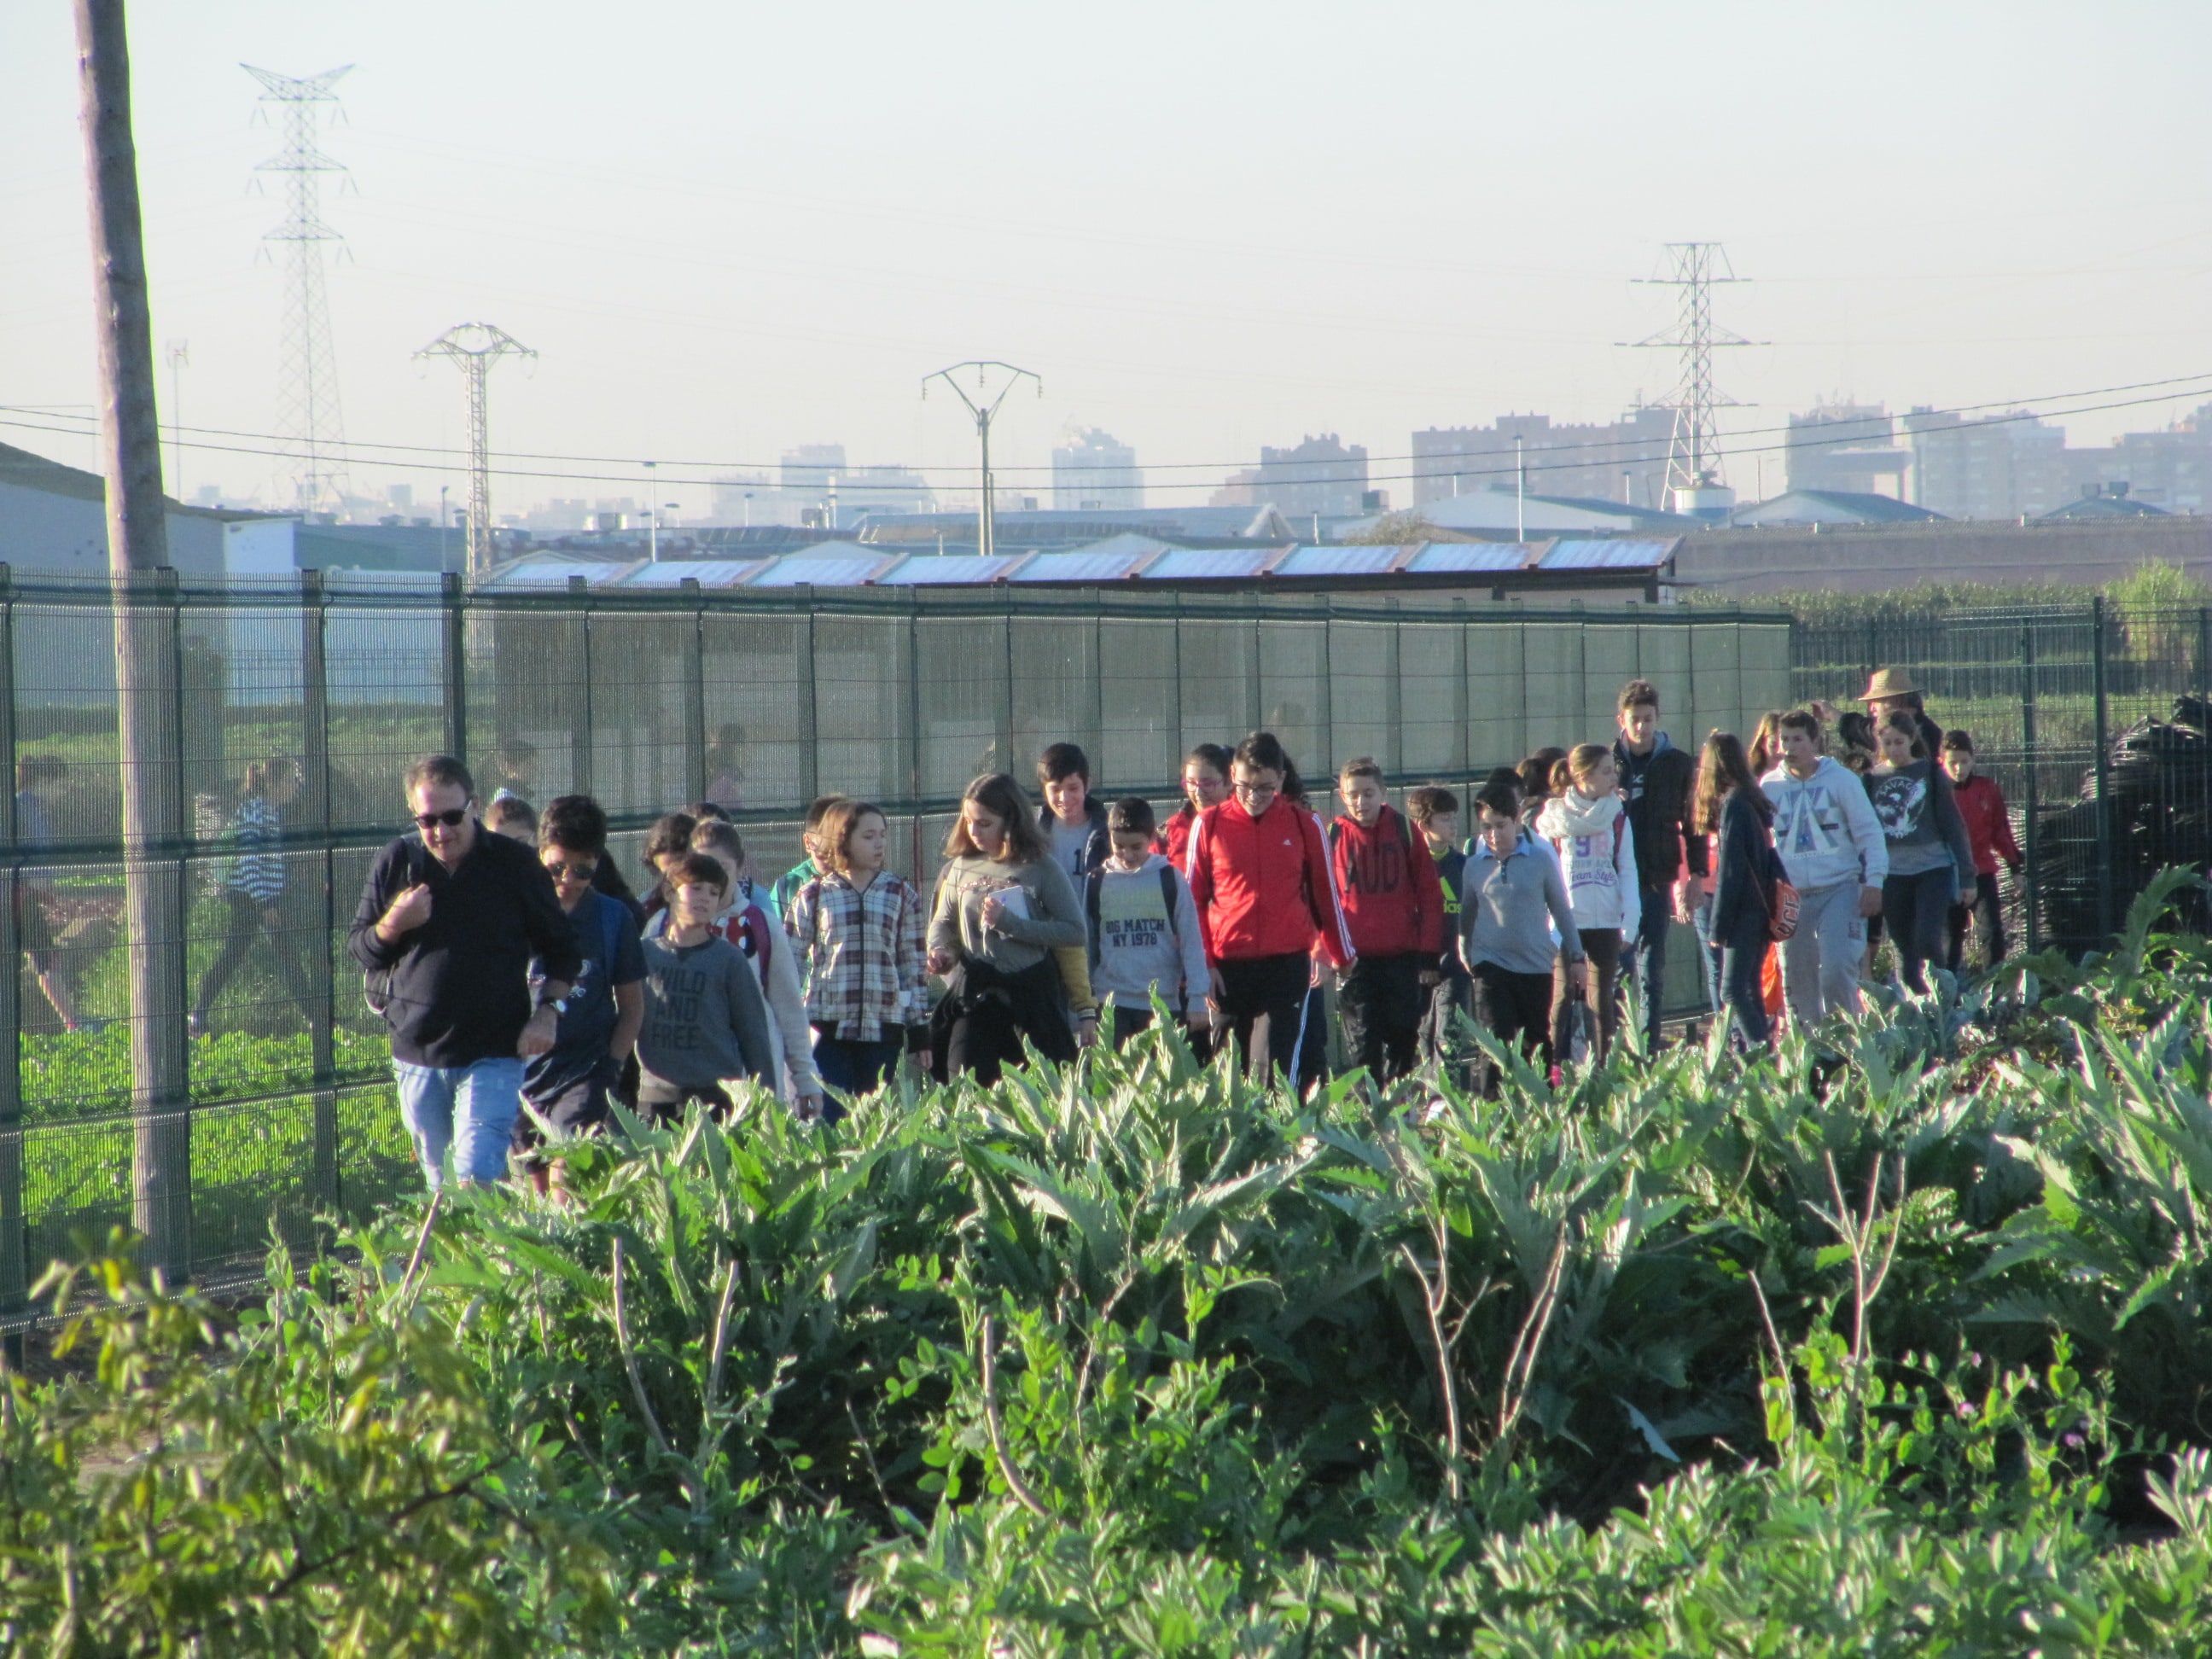
POLYGON ((1206 807, 1190 830, 1190 896, 1210 962, 1305 956, 1318 933, 1336 967, 1352 964, 1352 936, 1336 909, 1321 823, 1276 796, 1256 818, 1234 796, 1206 807))

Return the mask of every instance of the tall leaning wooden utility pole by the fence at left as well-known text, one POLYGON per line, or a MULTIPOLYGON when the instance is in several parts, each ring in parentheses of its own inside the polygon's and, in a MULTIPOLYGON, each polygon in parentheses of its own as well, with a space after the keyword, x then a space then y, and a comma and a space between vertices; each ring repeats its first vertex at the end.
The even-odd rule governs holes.
POLYGON ((108 484, 108 580, 115 613, 115 737, 124 785, 124 931, 131 967, 133 1223, 148 1265, 190 1267, 192 1139, 184 1031, 184 776, 177 611, 168 571, 161 429, 131 137, 124 0, 73 0, 80 122, 93 219, 100 330, 100 462, 108 484))

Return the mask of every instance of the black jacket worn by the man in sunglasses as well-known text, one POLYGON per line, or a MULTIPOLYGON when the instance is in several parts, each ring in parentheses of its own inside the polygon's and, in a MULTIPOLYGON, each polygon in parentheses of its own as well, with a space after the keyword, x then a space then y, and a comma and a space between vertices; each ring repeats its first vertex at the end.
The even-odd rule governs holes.
POLYGON ((531 958, 562 982, 584 964, 535 849, 482 825, 451 872, 420 836, 400 836, 376 854, 345 945, 363 969, 389 973, 392 1057, 414 1066, 513 1057, 531 1018, 531 958), (429 883, 429 920, 385 945, 376 918, 418 880, 429 883))

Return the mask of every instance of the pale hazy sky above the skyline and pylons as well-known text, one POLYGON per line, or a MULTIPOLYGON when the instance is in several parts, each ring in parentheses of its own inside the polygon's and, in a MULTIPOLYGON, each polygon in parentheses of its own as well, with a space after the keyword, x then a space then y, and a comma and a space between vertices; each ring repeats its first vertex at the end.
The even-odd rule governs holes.
MULTIPOLYGON (((1068 422, 1203 500, 1221 467, 1161 467, 1613 418, 1674 378, 1617 345, 1672 323, 1668 290, 1630 285, 1672 239, 1728 246, 1752 281, 1717 314, 1770 341, 1723 354, 1759 405, 1723 431, 1823 394, 1951 407, 2212 372, 2203 0, 133 13, 155 336, 190 343, 201 427, 276 420, 283 274, 257 254, 283 201, 250 179, 279 133, 241 62, 354 64, 323 137, 356 186, 323 197, 352 440, 458 451, 460 376, 409 354, 484 319, 542 354, 493 374, 498 451, 659 458, 695 511, 679 480, 706 469, 672 462, 796 442, 964 482, 964 411, 918 387, 971 356, 1044 378, 998 427, 1006 484, 1042 484, 1018 469, 1068 422)), ((91 403, 75 97, 69 7, 0 0, 0 405, 91 403)), ((2066 425, 2166 425, 2199 385, 2066 425)), ((422 502, 460 471, 352 478, 422 502)), ((575 471, 613 478, 495 500, 646 493, 635 467, 575 471)), ((1402 471, 1374 465, 1396 500, 1402 471)), ((1747 458, 1730 471, 1754 489, 1747 458)), ((184 484, 272 476, 188 453, 184 484)))

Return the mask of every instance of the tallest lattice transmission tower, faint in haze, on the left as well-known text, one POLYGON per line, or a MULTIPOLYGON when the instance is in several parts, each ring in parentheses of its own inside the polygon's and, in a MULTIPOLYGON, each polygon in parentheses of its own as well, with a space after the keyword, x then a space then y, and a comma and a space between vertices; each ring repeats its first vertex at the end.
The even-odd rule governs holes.
POLYGON ((239 64, 261 82, 261 102, 283 108, 283 148, 254 168, 285 179, 285 217, 261 237, 285 246, 285 319, 276 367, 276 431, 292 460, 292 500, 305 513, 336 511, 345 495, 345 414, 338 407, 338 356, 330 343, 330 305, 323 296, 323 243, 345 237, 323 223, 321 177, 345 173, 316 144, 332 88, 352 64, 321 75, 276 75, 239 64))

